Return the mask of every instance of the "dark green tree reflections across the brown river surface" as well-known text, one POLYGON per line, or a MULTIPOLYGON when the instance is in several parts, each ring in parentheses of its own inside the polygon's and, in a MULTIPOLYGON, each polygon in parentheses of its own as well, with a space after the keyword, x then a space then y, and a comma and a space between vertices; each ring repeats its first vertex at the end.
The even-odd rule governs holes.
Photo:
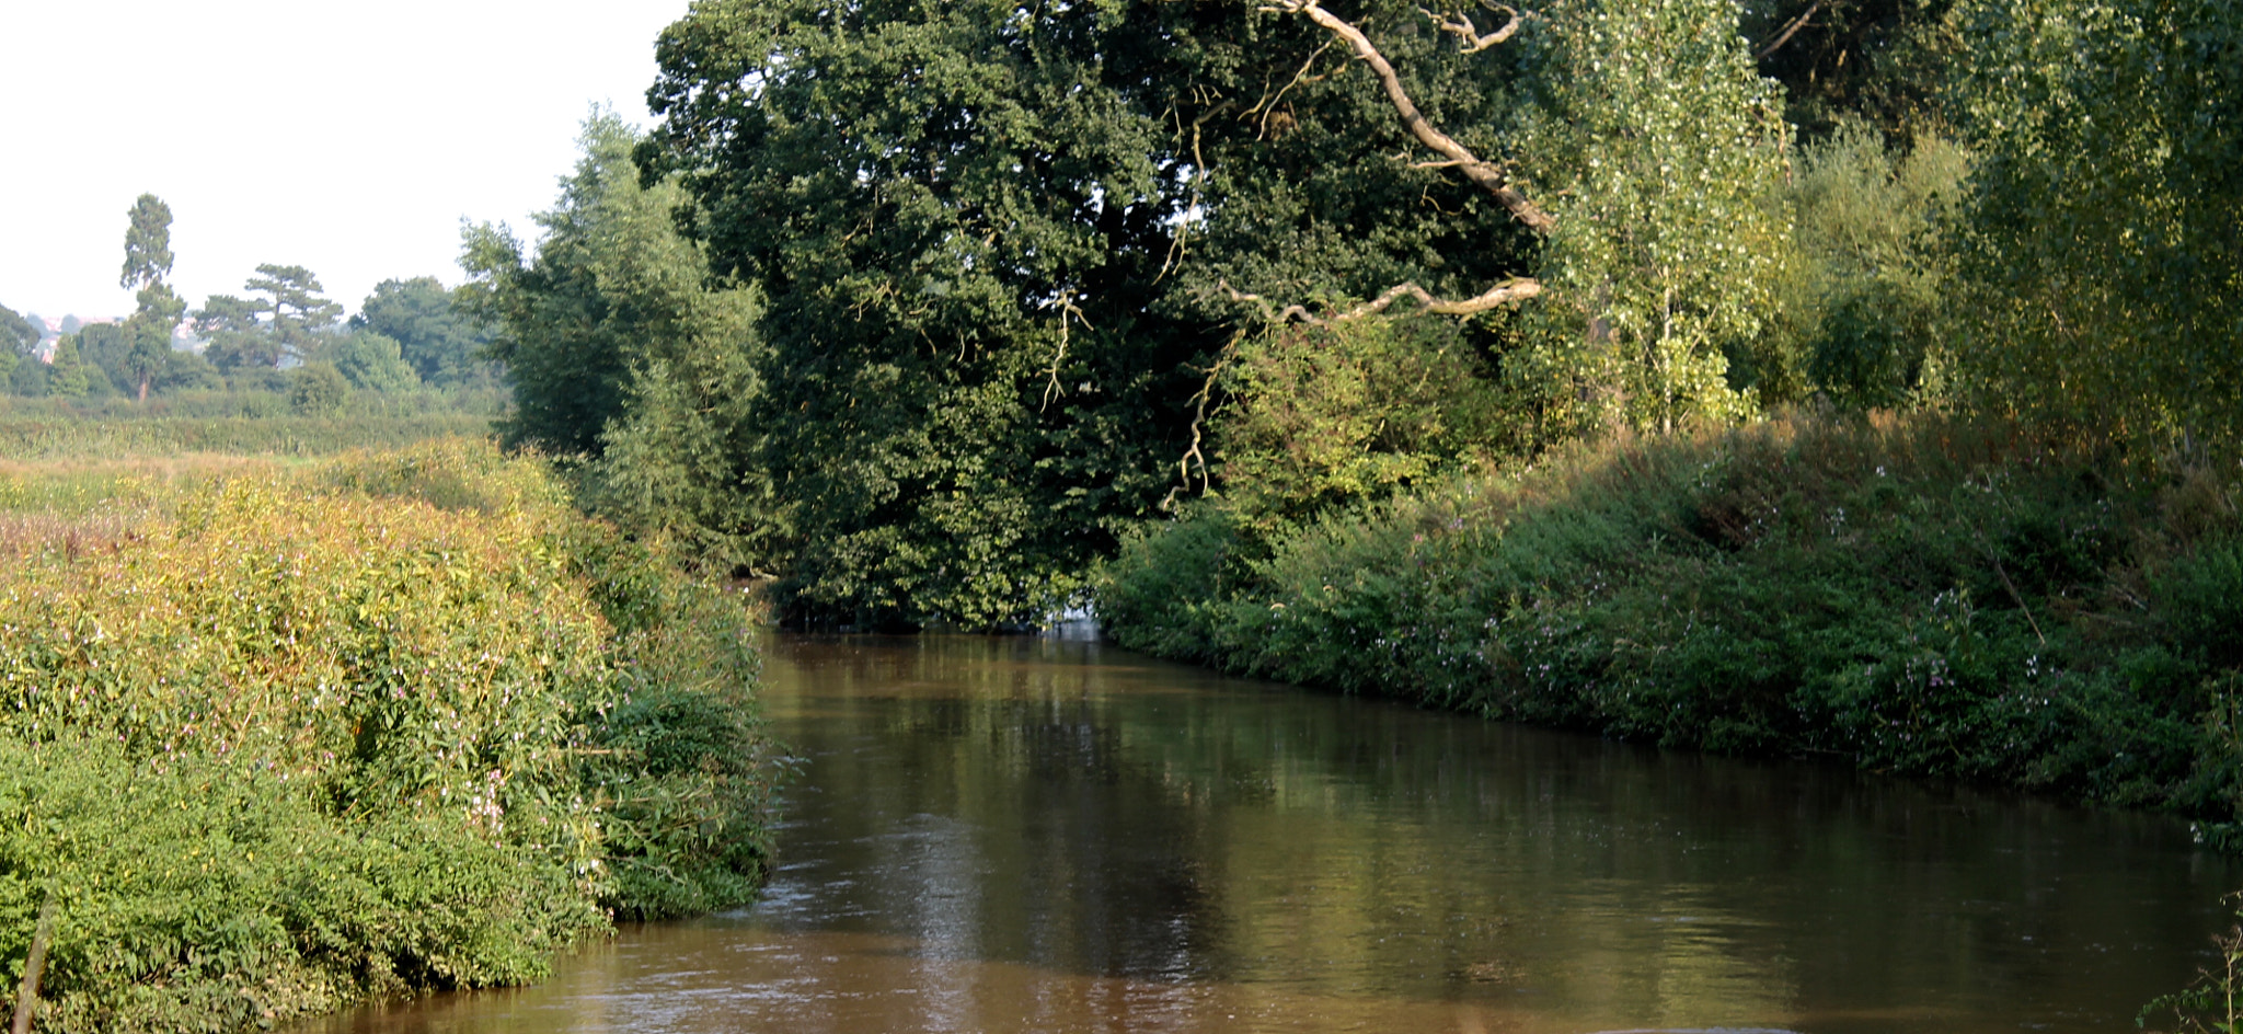
POLYGON ((1265 691, 1095 644, 776 659, 778 695, 805 695, 781 733, 814 756, 790 803, 823 843, 799 852, 857 879, 810 922, 938 955, 1532 994, 1631 1023, 1895 1003, 2077 1021, 2185 978, 2232 879, 2189 868, 2162 821, 1265 691))

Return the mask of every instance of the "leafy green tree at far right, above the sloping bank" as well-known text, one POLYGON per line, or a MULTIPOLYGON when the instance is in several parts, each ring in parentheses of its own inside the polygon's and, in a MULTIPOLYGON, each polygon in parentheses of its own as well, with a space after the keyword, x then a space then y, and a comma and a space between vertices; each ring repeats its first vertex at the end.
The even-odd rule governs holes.
POLYGON ((1972 0, 1960 366, 1983 406, 2153 451, 2243 435, 2243 16, 1972 0))

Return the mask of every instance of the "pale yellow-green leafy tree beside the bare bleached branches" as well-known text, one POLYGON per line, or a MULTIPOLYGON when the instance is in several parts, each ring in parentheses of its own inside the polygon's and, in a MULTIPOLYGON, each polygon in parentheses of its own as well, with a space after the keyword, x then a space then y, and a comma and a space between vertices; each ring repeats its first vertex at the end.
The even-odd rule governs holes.
POLYGON ((1770 209, 1785 126, 1736 4, 1559 2, 1539 25, 1521 148, 1527 184, 1563 200, 1545 258, 1559 301, 1530 310, 1514 377, 1541 395, 1545 437, 1754 413, 1729 370, 1790 251, 1770 209))

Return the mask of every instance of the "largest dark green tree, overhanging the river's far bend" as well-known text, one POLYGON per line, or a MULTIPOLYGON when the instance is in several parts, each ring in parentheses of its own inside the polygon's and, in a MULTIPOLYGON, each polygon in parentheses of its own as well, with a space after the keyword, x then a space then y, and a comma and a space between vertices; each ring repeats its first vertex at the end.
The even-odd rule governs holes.
MULTIPOLYGON (((803 615, 1036 617, 1175 487, 1243 296, 1469 296, 1532 247, 1395 159, 1323 29, 1247 4, 713 2, 659 58, 648 166, 767 294, 803 615)), ((1498 63, 1418 72, 1451 123, 1503 105, 1498 63)))

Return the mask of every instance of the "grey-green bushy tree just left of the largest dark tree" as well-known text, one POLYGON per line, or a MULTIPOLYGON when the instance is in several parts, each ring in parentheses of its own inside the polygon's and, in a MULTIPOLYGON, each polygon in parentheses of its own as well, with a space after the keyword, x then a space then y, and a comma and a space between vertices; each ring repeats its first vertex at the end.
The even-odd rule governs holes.
MULTIPOLYGON (((606 112, 585 123, 534 256, 502 227, 471 227, 460 307, 498 330, 509 444, 585 455, 608 516, 718 567, 767 570, 783 518, 747 422, 763 404, 756 294, 709 278, 702 247, 677 233, 682 191, 639 182, 635 139, 606 112)), ((397 307, 370 312, 390 321, 397 307)))

